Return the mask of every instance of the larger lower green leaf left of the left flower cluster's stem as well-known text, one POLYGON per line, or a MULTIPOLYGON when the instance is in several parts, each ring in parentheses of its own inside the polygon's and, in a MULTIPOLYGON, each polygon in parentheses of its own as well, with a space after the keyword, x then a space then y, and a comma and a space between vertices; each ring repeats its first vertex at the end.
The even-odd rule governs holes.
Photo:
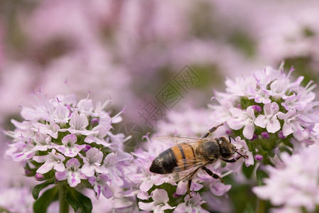
POLYGON ((43 213, 46 212, 46 209, 48 209, 48 206, 51 202, 58 200, 59 196, 58 193, 59 189, 57 186, 53 187, 50 190, 47 190, 43 193, 43 195, 36 200, 33 204, 33 210, 34 213, 43 213))

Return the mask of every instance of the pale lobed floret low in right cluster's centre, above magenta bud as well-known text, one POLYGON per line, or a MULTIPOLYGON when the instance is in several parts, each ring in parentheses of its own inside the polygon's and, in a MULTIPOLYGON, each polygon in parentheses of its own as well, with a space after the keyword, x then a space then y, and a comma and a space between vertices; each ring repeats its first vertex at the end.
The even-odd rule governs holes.
POLYGON ((255 120, 256 126, 267 129, 269 133, 275 133, 281 128, 279 120, 277 119, 277 113, 279 111, 279 105, 276 102, 272 102, 264 105, 264 114, 257 116, 255 120))

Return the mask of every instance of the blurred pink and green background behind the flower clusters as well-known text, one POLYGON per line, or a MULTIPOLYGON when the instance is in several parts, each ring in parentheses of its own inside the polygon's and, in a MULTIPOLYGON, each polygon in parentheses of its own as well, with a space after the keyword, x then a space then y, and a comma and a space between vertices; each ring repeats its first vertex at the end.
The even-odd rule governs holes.
MULTIPOLYGON (((286 70, 295 67, 293 75, 306 77, 305 84, 318 82, 318 1, 1 0, 0 125, 12 129, 19 106, 32 106, 30 94, 40 88, 49 98, 90 93, 94 102, 113 99, 114 113, 126 111, 115 128, 128 134, 135 124, 133 132, 141 135, 177 131, 193 120, 209 127, 207 104, 227 78, 283 61, 286 70), (183 98, 168 110, 156 94, 185 66, 200 81, 187 91, 173 84, 183 98), (139 114, 150 101, 164 114, 153 126, 139 114), (185 116, 193 110, 198 114, 185 116)), ((9 138, 1 134, 0 140, 3 156, 9 138)), ((129 141, 127 151, 138 142, 129 141)), ((18 163, 1 157, 0 170, 6 204, 35 184, 18 163)))

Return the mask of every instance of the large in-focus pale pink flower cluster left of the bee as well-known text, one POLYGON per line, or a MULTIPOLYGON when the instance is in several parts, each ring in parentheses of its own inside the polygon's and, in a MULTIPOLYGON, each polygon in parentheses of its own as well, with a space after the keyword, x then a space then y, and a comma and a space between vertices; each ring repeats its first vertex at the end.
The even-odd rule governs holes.
POLYGON ((22 107, 24 120, 11 120, 16 129, 6 131, 13 143, 5 158, 25 163, 26 175, 36 180, 66 180, 70 187, 90 182, 85 186, 94 189, 97 199, 101 193, 112 197, 112 187, 124 185, 123 168, 131 155, 122 151, 125 136, 112 133, 123 111, 110 116, 104 110, 110 103, 94 105, 89 98, 77 102, 69 94, 22 107))

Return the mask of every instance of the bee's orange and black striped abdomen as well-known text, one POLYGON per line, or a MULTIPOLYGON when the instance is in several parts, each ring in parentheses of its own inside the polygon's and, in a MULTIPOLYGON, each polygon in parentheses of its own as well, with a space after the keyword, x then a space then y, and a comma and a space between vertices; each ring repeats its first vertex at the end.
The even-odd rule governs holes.
POLYGON ((163 151, 158 155, 149 169, 152 173, 169 174, 178 170, 186 170, 195 163, 195 151, 193 146, 181 143, 163 151))

